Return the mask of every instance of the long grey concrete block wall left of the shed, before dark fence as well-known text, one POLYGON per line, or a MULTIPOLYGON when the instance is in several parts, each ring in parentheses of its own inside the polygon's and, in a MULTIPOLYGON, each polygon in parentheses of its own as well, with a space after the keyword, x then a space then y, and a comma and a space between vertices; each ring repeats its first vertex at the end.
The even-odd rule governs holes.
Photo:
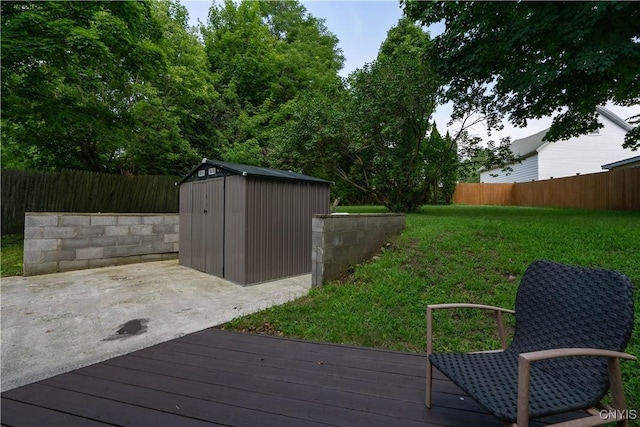
POLYGON ((178 214, 25 214, 25 276, 177 257, 178 214))

